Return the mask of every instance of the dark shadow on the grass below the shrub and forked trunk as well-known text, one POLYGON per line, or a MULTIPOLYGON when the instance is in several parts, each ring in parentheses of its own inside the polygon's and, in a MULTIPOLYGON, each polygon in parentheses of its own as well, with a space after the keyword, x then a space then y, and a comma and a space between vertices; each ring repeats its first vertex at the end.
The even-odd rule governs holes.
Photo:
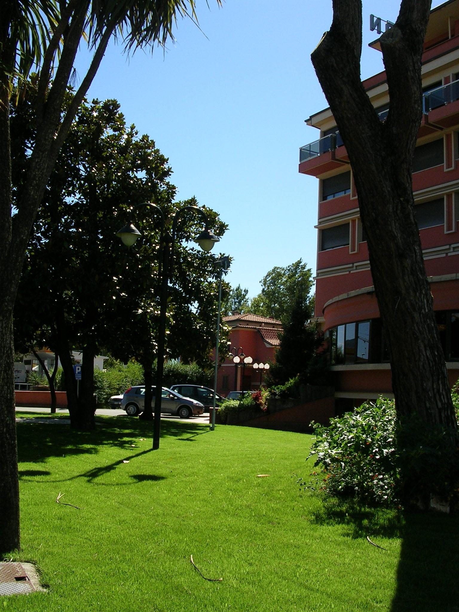
POLYGON ((376 544, 378 536, 401 539, 390 612, 459 612, 459 514, 362 507, 332 498, 323 500, 312 520, 344 525, 348 537, 369 537, 376 544))

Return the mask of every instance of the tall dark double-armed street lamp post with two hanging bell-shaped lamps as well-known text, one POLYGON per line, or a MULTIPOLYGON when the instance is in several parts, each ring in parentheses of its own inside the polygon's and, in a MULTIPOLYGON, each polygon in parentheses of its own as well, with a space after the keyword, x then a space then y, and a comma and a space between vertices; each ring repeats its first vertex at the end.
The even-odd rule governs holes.
POLYGON ((156 388, 155 388, 155 408, 154 408, 154 419, 153 419, 153 450, 159 449, 159 439, 161 433, 161 401, 162 401, 162 390, 163 390, 163 370, 164 370, 164 348, 165 348, 165 336, 166 336, 166 306, 167 306, 167 291, 168 282, 172 277, 173 264, 174 264, 174 246, 177 233, 177 224, 181 215, 186 212, 193 212, 203 219, 204 230, 201 231, 199 236, 196 236, 195 241, 200 245, 203 251, 210 251, 214 246, 215 242, 218 242, 217 236, 214 236, 209 231, 206 213, 198 208, 197 206, 184 206, 179 209, 175 214, 172 215, 172 235, 165 230, 166 217, 157 204, 147 202, 144 204, 138 204, 131 211, 130 219, 127 225, 121 228, 116 233, 116 236, 121 238, 122 242, 127 247, 132 247, 136 239, 141 236, 140 231, 132 224, 132 217, 136 210, 142 207, 152 208, 154 215, 159 218, 160 224, 160 240, 159 240, 159 266, 158 273, 161 278, 160 288, 160 314, 159 314, 159 326, 158 326, 158 343, 157 343, 157 371, 156 371, 156 388))

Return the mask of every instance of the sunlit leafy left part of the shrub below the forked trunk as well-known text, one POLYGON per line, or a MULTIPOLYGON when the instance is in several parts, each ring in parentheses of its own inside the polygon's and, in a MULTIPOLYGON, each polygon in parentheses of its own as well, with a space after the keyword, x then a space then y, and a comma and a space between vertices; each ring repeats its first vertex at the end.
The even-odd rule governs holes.
MULTIPOLYGON (((389 504, 397 496, 395 406, 379 398, 330 419, 330 426, 312 424, 316 435, 309 457, 323 466, 316 479, 302 485, 327 494, 356 496, 365 502, 389 504)), ((308 457, 308 458, 309 458, 308 457)))

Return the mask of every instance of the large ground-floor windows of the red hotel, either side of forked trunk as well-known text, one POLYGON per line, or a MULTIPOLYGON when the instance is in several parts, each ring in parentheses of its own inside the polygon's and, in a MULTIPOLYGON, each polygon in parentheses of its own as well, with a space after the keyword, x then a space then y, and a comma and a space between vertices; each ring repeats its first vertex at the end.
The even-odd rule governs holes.
MULTIPOLYGON (((435 313, 445 359, 459 360, 459 310, 435 313)), ((327 330, 331 365, 381 364, 389 362, 381 319, 356 321, 327 330)))

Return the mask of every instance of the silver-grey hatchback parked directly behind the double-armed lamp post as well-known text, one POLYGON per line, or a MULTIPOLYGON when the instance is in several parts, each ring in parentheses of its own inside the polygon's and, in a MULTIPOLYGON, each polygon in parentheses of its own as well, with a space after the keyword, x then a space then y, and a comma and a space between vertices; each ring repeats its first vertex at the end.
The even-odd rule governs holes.
MULTIPOLYGON (((153 387, 153 398, 155 397, 155 387, 153 387)), ((145 387, 130 387, 127 389, 121 400, 121 408, 129 416, 135 416, 143 412, 145 400, 145 387)), ((181 419, 188 419, 194 415, 203 414, 204 406, 200 401, 190 400, 187 397, 176 393, 167 387, 163 387, 161 412, 165 414, 177 414, 181 419)))

